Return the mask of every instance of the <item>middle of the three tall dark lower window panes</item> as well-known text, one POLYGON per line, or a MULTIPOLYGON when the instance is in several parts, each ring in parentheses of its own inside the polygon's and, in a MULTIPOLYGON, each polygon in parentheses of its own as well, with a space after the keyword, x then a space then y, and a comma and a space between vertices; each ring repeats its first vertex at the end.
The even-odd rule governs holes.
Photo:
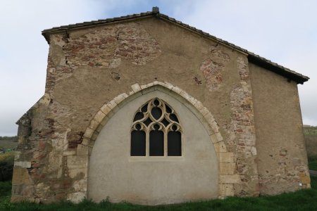
POLYGON ((152 130, 149 134, 149 155, 164 155, 164 134, 159 130, 152 130))

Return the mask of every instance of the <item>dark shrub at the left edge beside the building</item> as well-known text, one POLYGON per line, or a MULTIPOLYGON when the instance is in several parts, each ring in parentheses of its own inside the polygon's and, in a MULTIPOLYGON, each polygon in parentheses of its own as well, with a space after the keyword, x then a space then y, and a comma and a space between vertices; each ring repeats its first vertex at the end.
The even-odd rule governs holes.
POLYGON ((0 181, 12 179, 14 152, 0 154, 0 181))

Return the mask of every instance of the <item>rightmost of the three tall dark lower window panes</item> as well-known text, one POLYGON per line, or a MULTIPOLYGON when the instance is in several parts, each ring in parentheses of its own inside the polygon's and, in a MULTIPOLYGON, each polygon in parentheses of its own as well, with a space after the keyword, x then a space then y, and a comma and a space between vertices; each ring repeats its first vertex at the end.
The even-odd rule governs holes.
POLYGON ((182 135, 180 132, 168 132, 168 156, 182 155, 182 135))

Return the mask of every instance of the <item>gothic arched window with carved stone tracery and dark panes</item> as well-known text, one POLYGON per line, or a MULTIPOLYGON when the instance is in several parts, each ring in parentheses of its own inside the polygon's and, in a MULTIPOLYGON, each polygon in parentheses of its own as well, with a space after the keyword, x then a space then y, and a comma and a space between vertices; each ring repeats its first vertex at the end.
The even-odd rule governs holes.
POLYGON ((131 156, 181 156, 182 129, 173 108, 153 98, 137 110, 131 129, 131 156))

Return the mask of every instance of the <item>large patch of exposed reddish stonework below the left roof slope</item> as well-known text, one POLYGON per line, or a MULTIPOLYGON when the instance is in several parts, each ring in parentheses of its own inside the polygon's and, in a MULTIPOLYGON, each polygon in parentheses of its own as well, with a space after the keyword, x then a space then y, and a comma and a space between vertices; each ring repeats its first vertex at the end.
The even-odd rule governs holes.
POLYGON ((138 23, 98 27, 85 34, 70 35, 66 40, 63 51, 67 64, 73 68, 81 65, 116 68, 123 58, 144 65, 161 53, 157 41, 138 23))

